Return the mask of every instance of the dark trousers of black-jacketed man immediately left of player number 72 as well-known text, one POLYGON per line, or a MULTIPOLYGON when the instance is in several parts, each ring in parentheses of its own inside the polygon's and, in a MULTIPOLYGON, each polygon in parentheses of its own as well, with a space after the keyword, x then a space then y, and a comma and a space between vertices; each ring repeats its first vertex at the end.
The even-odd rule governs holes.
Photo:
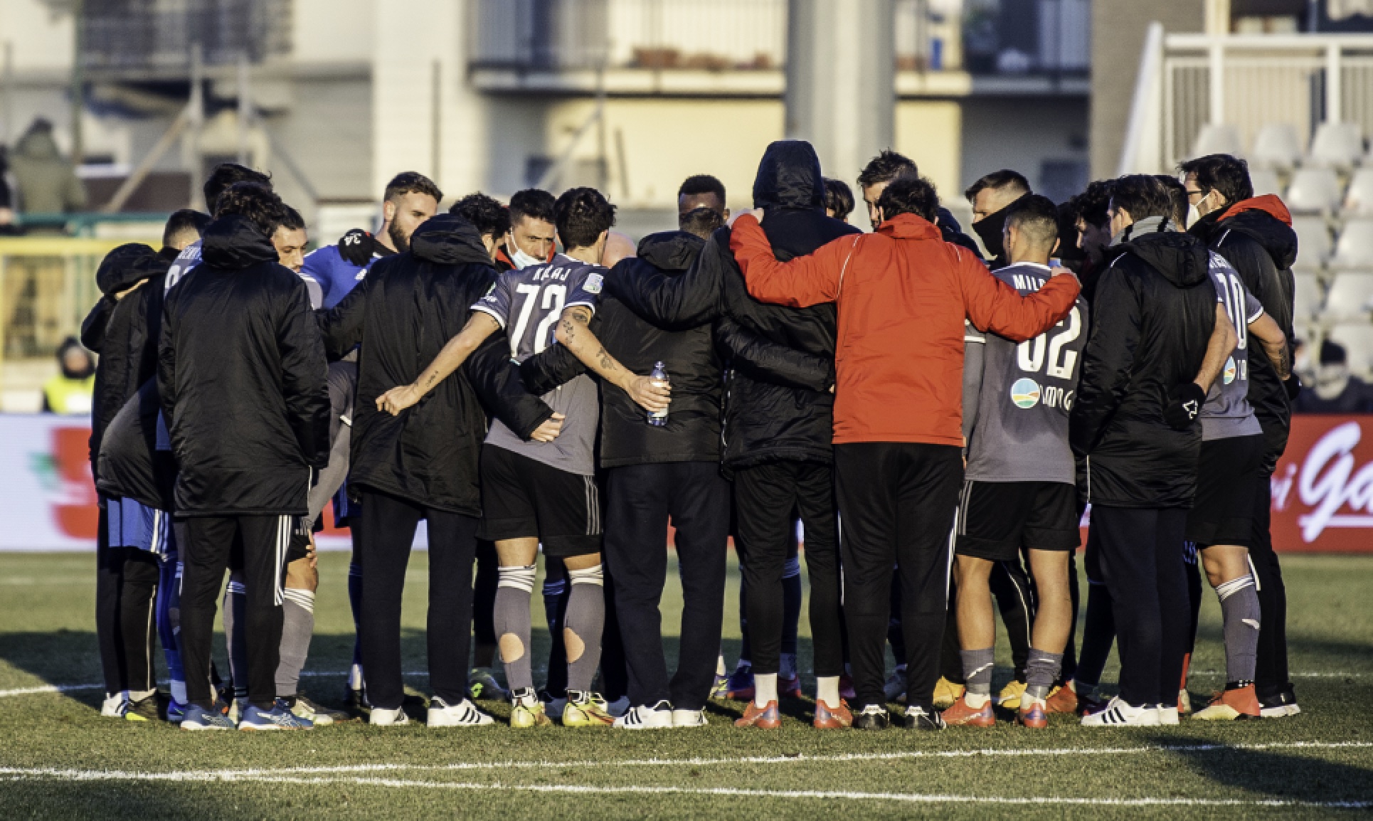
MULTIPOLYGON (((373 707, 398 710, 401 681, 401 596, 405 568, 420 519, 428 523, 430 686, 449 704, 467 697, 467 658, 472 644, 472 562, 475 516, 464 516, 362 490, 362 675, 373 707)), ((251 590, 251 585, 249 588, 251 590)))

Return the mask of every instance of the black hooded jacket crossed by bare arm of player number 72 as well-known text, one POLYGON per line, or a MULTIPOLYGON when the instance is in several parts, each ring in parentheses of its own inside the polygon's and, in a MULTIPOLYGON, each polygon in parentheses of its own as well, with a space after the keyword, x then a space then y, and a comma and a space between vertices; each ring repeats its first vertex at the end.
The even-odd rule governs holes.
POLYGON ((476 465, 486 412, 468 379, 472 362, 400 416, 378 410, 376 398, 415 382, 494 281, 492 258, 471 222, 439 214, 415 231, 408 251, 373 262, 342 302, 316 314, 331 358, 361 345, 350 489, 481 515, 476 465))

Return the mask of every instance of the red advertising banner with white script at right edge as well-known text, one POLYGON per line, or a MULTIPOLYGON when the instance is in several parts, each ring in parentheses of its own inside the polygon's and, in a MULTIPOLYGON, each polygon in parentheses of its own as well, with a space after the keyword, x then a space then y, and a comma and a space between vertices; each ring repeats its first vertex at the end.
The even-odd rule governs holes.
POLYGON ((1273 546, 1373 552, 1373 415, 1292 417, 1273 474, 1273 546))

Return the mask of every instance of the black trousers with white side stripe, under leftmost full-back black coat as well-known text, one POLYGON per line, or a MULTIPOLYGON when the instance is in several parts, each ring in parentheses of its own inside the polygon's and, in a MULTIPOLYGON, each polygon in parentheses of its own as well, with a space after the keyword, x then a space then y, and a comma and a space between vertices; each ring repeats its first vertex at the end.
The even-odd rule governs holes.
POLYGON ((249 655, 249 700, 270 707, 281 645, 281 574, 294 516, 194 516, 185 519, 181 545, 181 664, 192 704, 214 706, 210 643, 224 571, 235 542, 243 546, 249 655))

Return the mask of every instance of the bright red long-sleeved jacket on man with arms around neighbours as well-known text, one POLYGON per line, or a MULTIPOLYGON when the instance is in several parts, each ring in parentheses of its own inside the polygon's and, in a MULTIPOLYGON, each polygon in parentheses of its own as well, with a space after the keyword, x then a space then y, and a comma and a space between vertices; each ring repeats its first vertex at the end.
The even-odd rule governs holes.
POLYGON ((836 445, 961 446, 964 317, 1022 342, 1067 316, 1079 290, 1076 277, 1056 276, 1020 297, 914 214, 789 262, 773 257, 762 227, 746 214, 729 247, 755 298, 796 308, 838 303, 836 445))

